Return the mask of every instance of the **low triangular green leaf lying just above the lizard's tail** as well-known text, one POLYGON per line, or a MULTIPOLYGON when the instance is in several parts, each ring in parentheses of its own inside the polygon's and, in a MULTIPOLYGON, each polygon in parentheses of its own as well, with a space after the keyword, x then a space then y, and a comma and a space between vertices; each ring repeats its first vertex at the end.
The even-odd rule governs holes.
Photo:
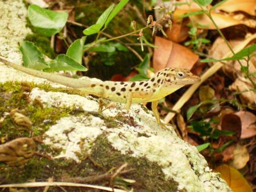
POLYGON ((45 69, 44 71, 46 72, 57 72, 60 70, 80 70, 84 72, 87 70, 84 66, 64 54, 58 55, 55 60, 49 61, 48 64, 51 65, 51 68, 45 69))

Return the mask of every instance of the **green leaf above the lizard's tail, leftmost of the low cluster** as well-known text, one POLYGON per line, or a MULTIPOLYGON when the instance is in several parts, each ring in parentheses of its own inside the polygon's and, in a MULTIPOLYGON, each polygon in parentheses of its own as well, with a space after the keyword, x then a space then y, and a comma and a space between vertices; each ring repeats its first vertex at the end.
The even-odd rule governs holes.
POLYGON ((30 41, 22 41, 19 50, 22 52, 22 59, 24 66, 36 70, 49 68, 44 61, 44 55, 38 48, 30 41))

